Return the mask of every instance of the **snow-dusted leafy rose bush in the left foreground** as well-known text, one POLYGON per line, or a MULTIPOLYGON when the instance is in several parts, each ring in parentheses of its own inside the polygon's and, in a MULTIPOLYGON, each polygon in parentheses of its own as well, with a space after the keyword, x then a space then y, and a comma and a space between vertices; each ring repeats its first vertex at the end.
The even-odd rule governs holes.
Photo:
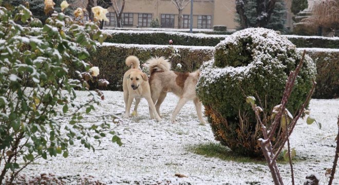
POLYGON ((82 24, 55 12, 52 0, 45 1, 45 12, 50 15, 46 24, 31 29, 16 24, 35 21, 29 9, 0 7, 0 183, 8 172, 6 181, 12 183, 38 158, 68 157, 76 140, 95 151, 89 138, 100 143, 109 133, 113 142, 122 144, 114 131, 107 131, 110 124, 105 117, 90 126, 79 123, 83 113, 104 99, 100 90, 88 90, 87 81, 96 78, 99 68, 90 68, 83 60, 89 56, 86 48, 95 50, 95 41, 102 43, 106 35, 96 23, 82 24), (70 79, 67 62, 87 72, 78 72, 80 80, 70 79), (76 100, 76 89, 87 90, 88 99, 76 100), (61 124, 66 118, 69 123, 61 124))

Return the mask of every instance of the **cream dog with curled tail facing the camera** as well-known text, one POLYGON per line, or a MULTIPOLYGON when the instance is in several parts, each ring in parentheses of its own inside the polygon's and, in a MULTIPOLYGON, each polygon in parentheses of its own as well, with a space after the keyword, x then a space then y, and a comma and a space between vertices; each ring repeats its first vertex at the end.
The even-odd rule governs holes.
POLYGON ((134 111, 136 115, 138 115, 137 108, 140 103, 140 99, 145 98, 147 100, 148 106, 150 107, 149 114, 152 115, 151 118, 156 118, 158 121, 161 121, 161 118, 158 115, 150 96, 148 77, 140 70, 139 59, 135 56, 129 56, 126 58, 125 63, 127 66, 131 66, 131 68, 125 72, 124 78, 122 80, 122 88, 124 90, 125 101, 124 118, 129 118, 129 111, 133 99, 136 99, 134 111))

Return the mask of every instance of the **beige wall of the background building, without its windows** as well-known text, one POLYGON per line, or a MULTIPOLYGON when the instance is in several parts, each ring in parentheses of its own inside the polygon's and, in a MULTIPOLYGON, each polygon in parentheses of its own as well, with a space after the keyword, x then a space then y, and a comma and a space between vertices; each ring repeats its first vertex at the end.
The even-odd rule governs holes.
MULTIPOLYGON (((85 2, 85 0, 82 0, 85 2)), ((292 16, 290 6, 292 0, 285 0, 287 6, 287 26, 292 27, 292 16)), ((118 0, 121 5, 121 0, 118 0)), ((211 15, 211 28, 213 25, 225 25, 228 29, 235 29, 238 25, 234 21, 236 16, 235 0, 194 0, 193 28, 197 28, 198 15, 211 15)), ((110 12, 113 12, 109 8, 110 12)), ((174 26, 178 26, 178 9, 171 0, 125 0, 124 13, 134 13, 133 25, 138 25, 138 13, 151 13, 152 17, 159 18, 161 14, 174 14, 174 26)), ((191 4, 189 3, 183 10, 183 14, 190 14, 191 4)), ((161 24, 161 23, 160 23, 161 24)))

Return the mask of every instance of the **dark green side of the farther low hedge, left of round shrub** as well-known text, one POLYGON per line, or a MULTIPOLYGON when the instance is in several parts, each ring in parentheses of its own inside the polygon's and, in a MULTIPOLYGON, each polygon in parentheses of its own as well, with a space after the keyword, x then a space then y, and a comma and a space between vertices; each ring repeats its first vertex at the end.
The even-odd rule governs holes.
POLYGON ((172 40, 173 45, 215 46, 224 39, 222 35, 220 37, 198 37, 194 34, 171 34, 166 32, 114 32, 111 37, 106 39, 106 42, 167 45, 168 41, 172 40))

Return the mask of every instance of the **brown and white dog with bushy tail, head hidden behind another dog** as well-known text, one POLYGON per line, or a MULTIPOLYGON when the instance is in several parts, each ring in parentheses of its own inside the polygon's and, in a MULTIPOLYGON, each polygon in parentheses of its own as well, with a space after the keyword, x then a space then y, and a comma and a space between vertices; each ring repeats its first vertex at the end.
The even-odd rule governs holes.
MULTIPOLYGON (((152 100, 156 103, 158 115, 160 115, 160 105, 164 101, 168 92, 174 93, 178 96, 179 102, 174 109, 172 115, 172 122, 176 122, 176 117, 180 109, 186 104, 187 101, 193 100, 199 121, 205 124, 205 120, 202 118, 201 102, 198 99, 195 87, 199 79, 199 70, 195 72, 180 73, 171 70, 171 63, 164 57, 151 58, 146 62, 150 77, 149 86, 152 100)), ((151 114, 151 118, 152 118, 151 114)))

